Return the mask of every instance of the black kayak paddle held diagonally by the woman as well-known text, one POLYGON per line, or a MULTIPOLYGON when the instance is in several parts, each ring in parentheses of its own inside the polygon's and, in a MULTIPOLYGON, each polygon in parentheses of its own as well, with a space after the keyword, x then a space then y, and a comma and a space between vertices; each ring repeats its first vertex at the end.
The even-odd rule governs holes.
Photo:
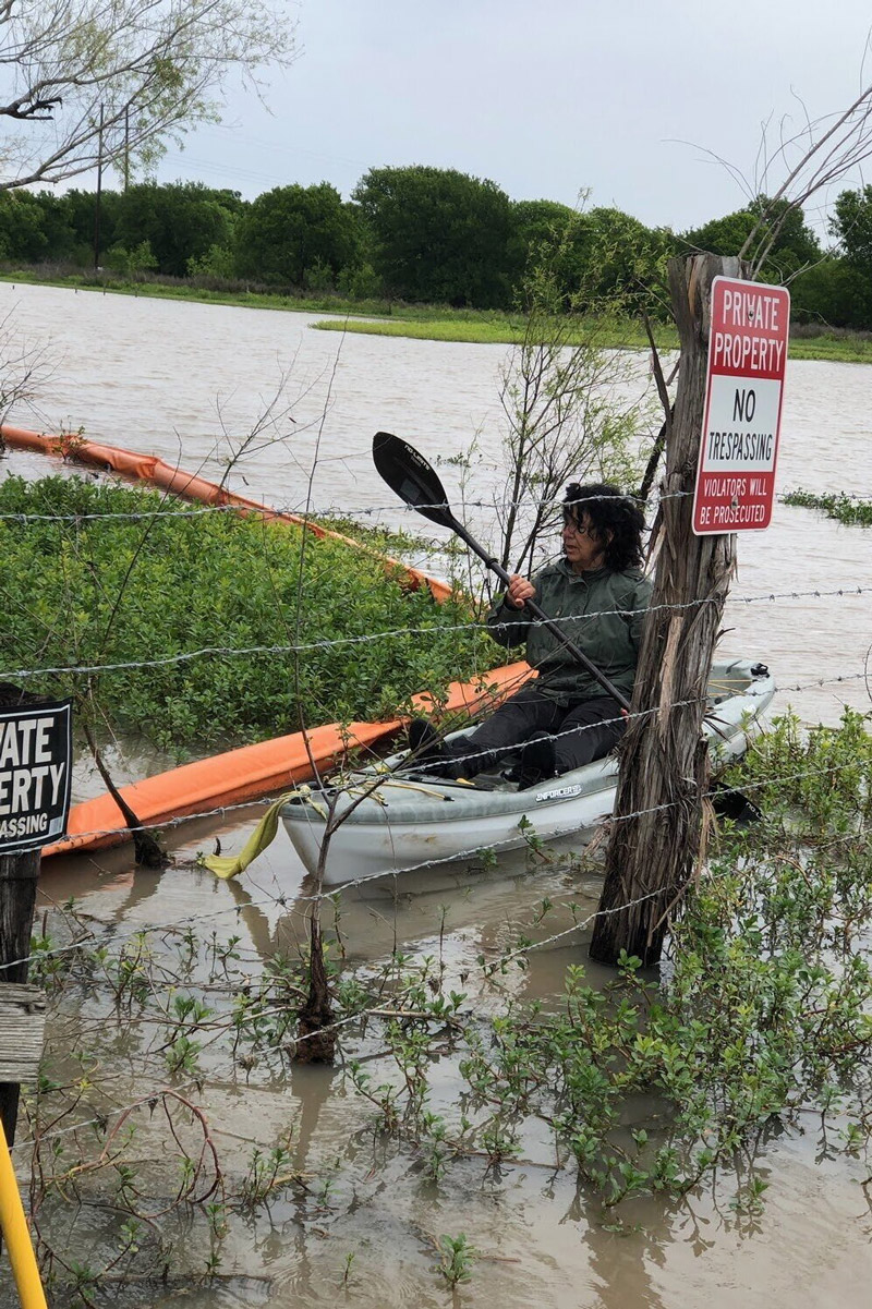
MULTIPOLYGON (((401 500, 403 500, 411 509, 423 514, 424 518, 429 518, 431 522, 437 522, 441 528, 448 528, 453 531, 461 541, 466 545, 478 558, 484 563, 491 572, 496 573, 504 586, 508 586, 511 577, 505 568, 496 559, 492 559, 486 550, 479 546, 462 522, 452 513, 448 496, 445 495, 445 488, 439 480, 436 473, 427 462, 423 454, 419 454, 414 445, 409 441, 403 441, 398 436, 393 436, 390 432, 376 432, 372 439, 372 459, 376 465, 376 471, 388 483, 391 491, 394 491, 401 500)), ((584 669, 596 678, 600 686, 609 692, 609 695, 618 702, 622 709, 630 708, 630 700, 626 698, 623 691, 609 681, 605 673, 601 673, 596 664, 592 664, 584 651, 579 649, 575 641, 571 641, 564 632, 560 631, 559 626, 549 618, 549 615, 539 609, 534 600, 528 600, 524 602, 524 607, 530 611, 530 614, 542 623, 543 627, 556 636, 562 645, 568 649, 570 654, 581 664, 584 669)))

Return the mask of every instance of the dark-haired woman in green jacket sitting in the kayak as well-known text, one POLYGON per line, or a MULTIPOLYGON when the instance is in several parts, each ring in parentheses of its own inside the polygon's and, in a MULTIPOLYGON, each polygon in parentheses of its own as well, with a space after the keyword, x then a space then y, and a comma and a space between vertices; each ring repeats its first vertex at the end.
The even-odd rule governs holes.
POLYGON ((462 740, 440 741, 424 719, 411 723, 418 763, 445 778, 500 768, 524 745, 520 787, 601 759, 626 716, 617 702, 524 605, 536 600, 613 685, 630 699, 651 583, 642 572, 644 518, 617 487, 570 483, 563 500, 563 556, 532 580, 515 575, 487 617, 500 645, 526 641, 538 677, 462 740))

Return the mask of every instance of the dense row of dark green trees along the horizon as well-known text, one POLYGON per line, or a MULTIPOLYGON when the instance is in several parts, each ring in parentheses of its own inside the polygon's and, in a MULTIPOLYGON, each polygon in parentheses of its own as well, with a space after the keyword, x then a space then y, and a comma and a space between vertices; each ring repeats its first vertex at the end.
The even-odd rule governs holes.
POLYGON ((509 310, 547 250, 567 306, 660 318, 666 259, 736 254, 761 213, 778 228, 761 275, 790 280, 795 317, 872 329, 872 186, 839 195, 829 250, 801 209, 765 196, 676 233, 617 208, 516 202, 495 182, 422 165, 371 169, 347 202, 327 182, 251 202, 196 182, 141 182, 100 202, 92 191, 17 190, 0 192, 0 260, 509 310))

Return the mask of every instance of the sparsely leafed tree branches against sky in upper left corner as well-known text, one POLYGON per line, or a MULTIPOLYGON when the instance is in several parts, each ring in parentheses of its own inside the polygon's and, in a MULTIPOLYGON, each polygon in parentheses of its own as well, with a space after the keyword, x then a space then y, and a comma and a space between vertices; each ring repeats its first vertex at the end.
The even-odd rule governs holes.
POLYGON ((0 33, 0 190, 148 165, 215 120, 233 69, 261 94, 295 58, 289 0, 18 0, 0 33))

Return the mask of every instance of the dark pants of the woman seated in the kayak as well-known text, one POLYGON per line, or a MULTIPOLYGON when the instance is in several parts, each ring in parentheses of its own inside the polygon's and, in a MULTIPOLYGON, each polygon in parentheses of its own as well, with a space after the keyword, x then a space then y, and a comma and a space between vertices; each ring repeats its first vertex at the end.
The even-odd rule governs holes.
POLYGON ((554 738, 556 772, 568 772, 606 755, 621 740, 626 721, 610 695, 579 700, 566 708, 533 682, 522 686, 466 740, 445 741, 443 753, 452 758, 450 775, 473 778, 477 772, 499 770, 507 750, 546 734, 554 738))

